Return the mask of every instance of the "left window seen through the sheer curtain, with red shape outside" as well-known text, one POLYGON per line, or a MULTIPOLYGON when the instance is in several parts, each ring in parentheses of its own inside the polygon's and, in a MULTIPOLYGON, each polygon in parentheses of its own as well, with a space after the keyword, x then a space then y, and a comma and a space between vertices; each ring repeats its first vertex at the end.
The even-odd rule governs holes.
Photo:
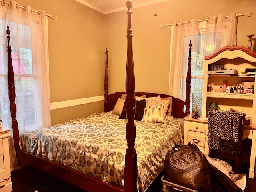
MULTIPOLYGON (((4 20, 0 21, 5 24, 4 20)), ((19 105, 20 100, 24 103, 22 111, 24 114, 25 126, 35 126, 37 124, 36 118, 36 75, 32 65, 32 50, 31 50, 31 33, 30 26, 10 22, 11 38, 12 38, 12 65, 15 77, 16 90, 21 89, 22 95, 16 91, 16 105, 19 105), (15 38, 15 36, 19 38, 15 38)), ((9 96, 8 96, 8 69, 4 64, 6 57, 4 55, 3 46, 0 47, 1 52, 1 68, 0 68, 0 99, 4 104, 2 108, 2 118, 9 117, 9 96)), ((18 107, 17 107, 18 108, 18 107)), ((17 113, 17 119, 18 119, 17 113)))

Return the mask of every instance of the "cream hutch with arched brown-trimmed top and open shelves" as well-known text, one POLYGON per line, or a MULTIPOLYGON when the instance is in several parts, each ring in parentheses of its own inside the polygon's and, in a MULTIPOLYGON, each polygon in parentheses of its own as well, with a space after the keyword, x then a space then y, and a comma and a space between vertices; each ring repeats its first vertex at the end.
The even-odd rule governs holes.
POLYGON ((251 117, 252 123, 256 123, 256 94, 218 92, 218 88, 223 87, 224 80, 228 86, 237 86, 241 82, 255 84, 255 75, 244 74, 247 68, 256 69, 256 53, 244 46, 225 46, 205 56, 202 117, 208 116, 209 104, 215 101, 220 110, 236 109, 244 112, 246 117, 251 117), (223 65, 226 70, 236 69, 236 74, 208 74, 212 73, 209 71, 216 64, 223 65), (212 92, 207 92, 209 84, 212 92))

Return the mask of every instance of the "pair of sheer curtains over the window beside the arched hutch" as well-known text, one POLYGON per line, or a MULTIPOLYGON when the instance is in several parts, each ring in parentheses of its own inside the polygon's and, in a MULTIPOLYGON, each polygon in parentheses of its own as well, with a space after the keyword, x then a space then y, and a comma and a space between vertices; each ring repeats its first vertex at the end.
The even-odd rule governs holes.
MULTIPOLYGON (((219 48, 227 45, 236 45, 236 13, 230 17, 218 15, 208 21, 189 24, 180 21, 174 24, 173 46, 170 64, 170 87, 169 94, 182 100, 186 99, 186 73, 188 64, 188 44, 192 41, 191 61, 191 95, 202 93, 204 74, 204 56, 212 54, 219 48), (202 26, 204 26, 202 28, 202 26)), ((192 97, 190 97, 191 99, 192 97)))

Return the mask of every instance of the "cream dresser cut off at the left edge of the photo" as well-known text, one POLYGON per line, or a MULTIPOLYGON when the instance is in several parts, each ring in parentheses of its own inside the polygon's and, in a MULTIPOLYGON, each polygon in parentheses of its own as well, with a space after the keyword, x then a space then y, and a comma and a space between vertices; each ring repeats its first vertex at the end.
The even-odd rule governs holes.
POLYGON ((12 191, 9 132, 10 130, 0 129, 0 192, 12 191))

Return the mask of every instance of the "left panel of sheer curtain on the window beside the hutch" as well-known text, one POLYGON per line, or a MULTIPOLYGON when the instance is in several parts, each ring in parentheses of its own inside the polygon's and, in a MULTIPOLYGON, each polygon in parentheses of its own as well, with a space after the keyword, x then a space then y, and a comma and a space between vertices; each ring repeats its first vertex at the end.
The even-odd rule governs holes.
MULTIPOLYGON (((173 47, 172 47, 172 60, 170 64, 170 88, 169 94, 180 98, 186 99, 186 94, 183 90, 186 90, 186 74, 188 69, 188 52, 189 43, 192 43, 192 52, 197 52, 198 49, 198 35, 199 35, 199 23, 195 19, 189 24, 174 24, 173 35, 173 47), (183 96, 185 96, 183 98, 183 96)), ((192 59, 194 60, 194 56, 192 59)), ((192 61, 192 63, 195 63, 192 61)), ((195 70, 195 67, 191 68, 191 71, 195 70)), ((193 73, 192 73, 193 74, 193 73)))

